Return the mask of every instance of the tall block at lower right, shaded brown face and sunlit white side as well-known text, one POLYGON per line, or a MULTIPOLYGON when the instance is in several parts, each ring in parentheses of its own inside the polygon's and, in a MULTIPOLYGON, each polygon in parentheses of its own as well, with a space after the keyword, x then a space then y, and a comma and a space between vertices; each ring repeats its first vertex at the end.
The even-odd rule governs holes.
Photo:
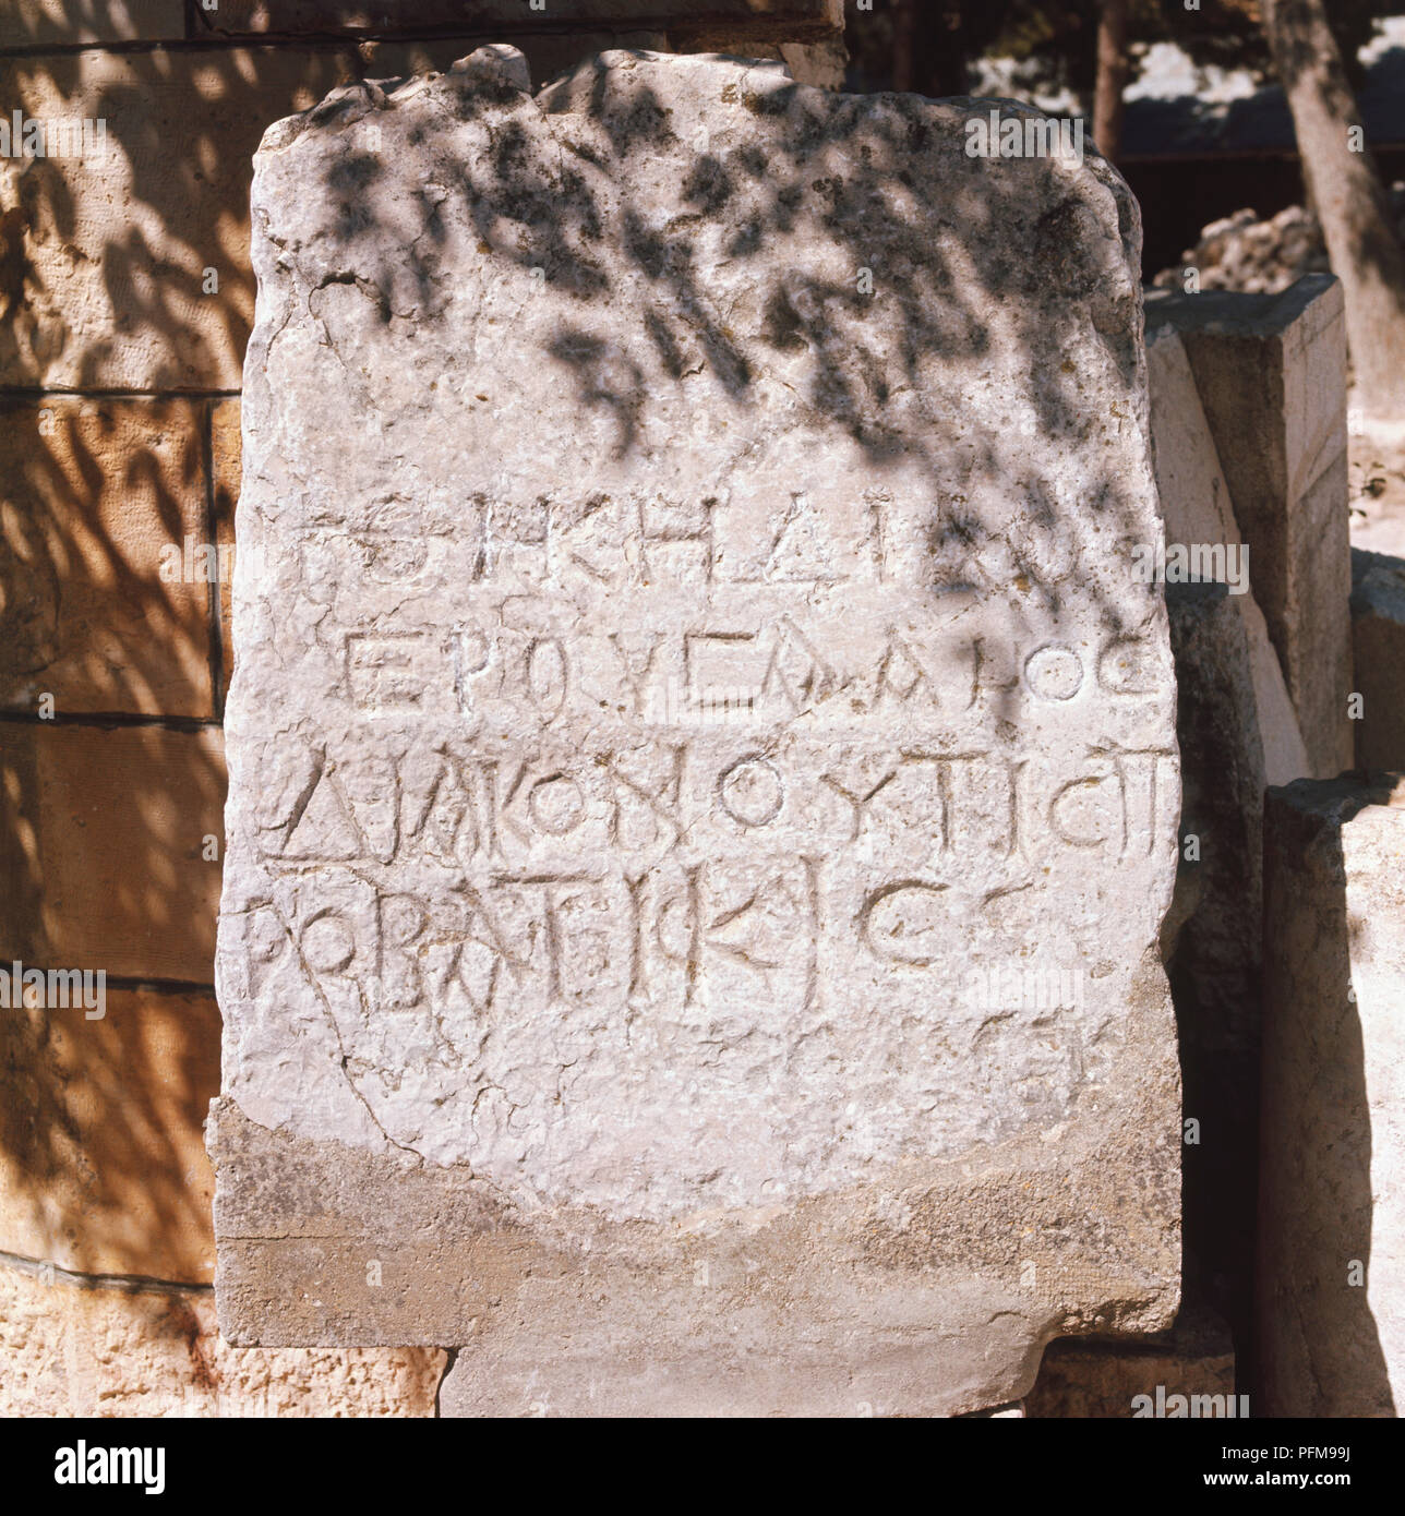
POLYGON ((1405 781, 1270 790, 1258 1343, 1264 1416, 1405 1399, 1405 781))

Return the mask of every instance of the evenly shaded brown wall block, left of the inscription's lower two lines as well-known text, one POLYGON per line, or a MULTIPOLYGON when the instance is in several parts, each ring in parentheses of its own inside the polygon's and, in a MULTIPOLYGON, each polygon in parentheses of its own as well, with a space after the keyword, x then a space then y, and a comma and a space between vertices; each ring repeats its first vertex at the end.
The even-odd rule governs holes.
POLYGON ((209 984, 223 802, 215 729, 0 723, 0 961, 209 984))

